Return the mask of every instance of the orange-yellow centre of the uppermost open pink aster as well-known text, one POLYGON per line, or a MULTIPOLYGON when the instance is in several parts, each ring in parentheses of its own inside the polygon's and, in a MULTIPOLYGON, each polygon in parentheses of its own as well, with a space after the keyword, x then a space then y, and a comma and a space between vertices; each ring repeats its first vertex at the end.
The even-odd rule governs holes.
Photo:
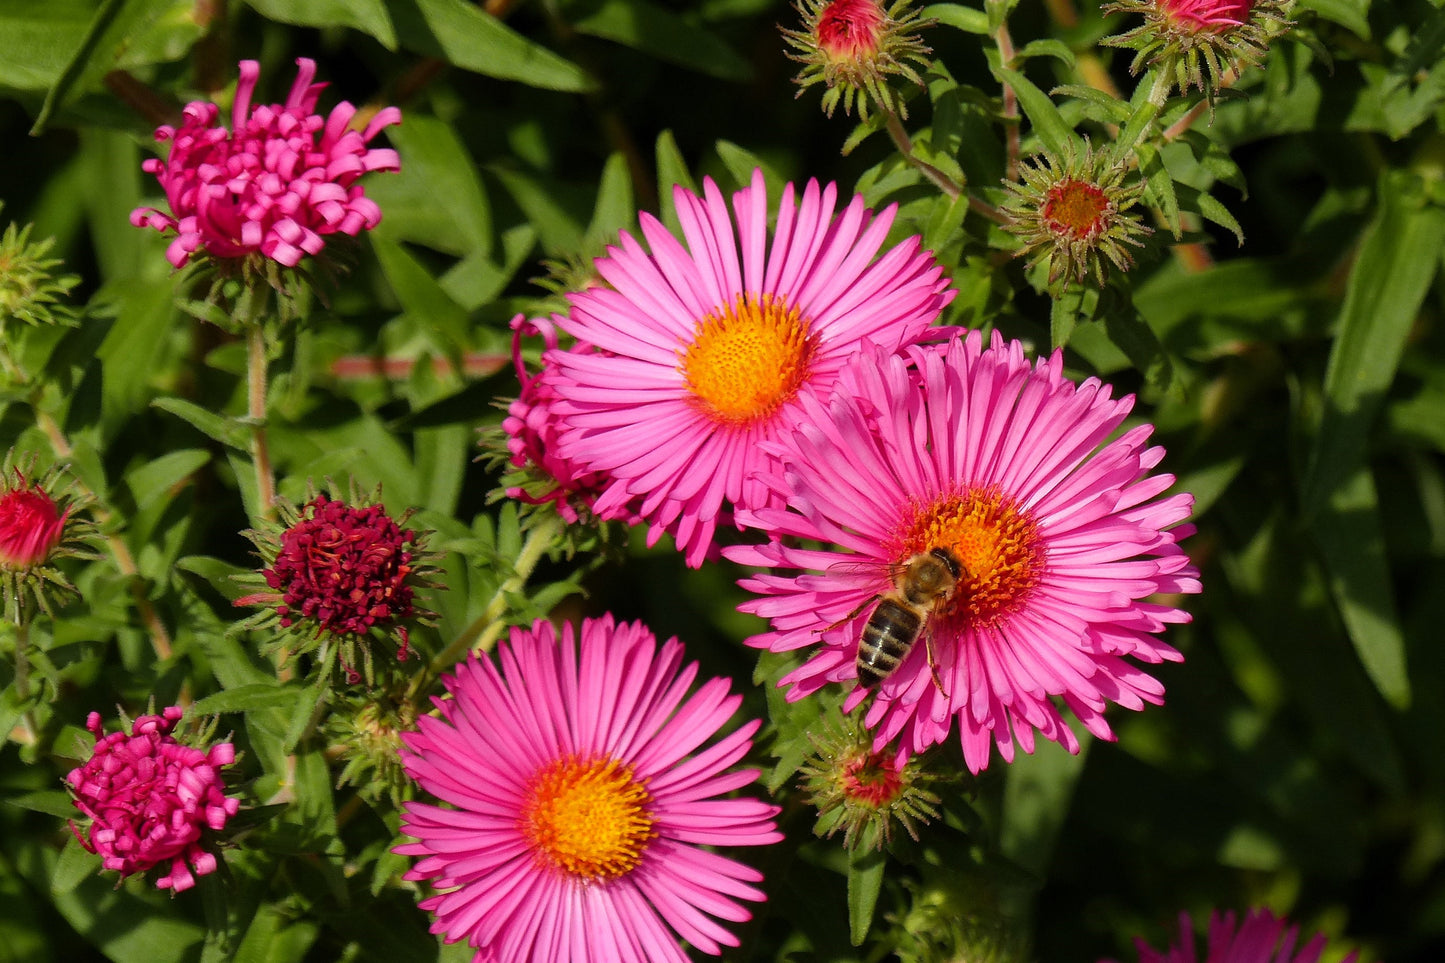
POLYGON ((678 370, 714 421, 746 428, 798 393, 815 348, 808 322, 786 299, 738 295, 736 305, 698 321, 678 370))

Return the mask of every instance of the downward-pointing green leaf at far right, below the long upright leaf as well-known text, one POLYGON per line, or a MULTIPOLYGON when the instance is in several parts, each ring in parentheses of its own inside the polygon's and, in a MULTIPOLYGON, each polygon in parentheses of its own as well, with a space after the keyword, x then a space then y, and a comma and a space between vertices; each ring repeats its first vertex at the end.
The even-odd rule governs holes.
POLYGON ((1396 709, 1410 704, 1405 636, 1396 615, 1390 565, 1380 526, 1380 496, 1367 466, 1329 493, 1311 531, 1329 577, 1350 642, 1380 694, 1396 709))

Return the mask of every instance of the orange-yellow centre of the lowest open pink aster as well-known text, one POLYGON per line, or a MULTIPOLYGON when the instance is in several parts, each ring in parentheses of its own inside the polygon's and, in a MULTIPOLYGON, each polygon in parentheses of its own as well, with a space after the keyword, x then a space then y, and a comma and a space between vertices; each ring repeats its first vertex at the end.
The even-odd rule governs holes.
POLYGON ((616 759, 558 759, 527 787, 522 834, 543 865, 584 881, 624 876, 657 836, 652 795, 616 759))

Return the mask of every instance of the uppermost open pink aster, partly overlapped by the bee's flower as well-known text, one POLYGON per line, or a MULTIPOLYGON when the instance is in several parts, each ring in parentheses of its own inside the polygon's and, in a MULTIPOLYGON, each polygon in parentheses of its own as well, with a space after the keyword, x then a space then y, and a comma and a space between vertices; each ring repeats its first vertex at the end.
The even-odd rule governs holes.
POLYGON ((595 351, 551 351, 556 411, 571 429, 561 453, 608 476, 605 513, 640 497, 639 515, 696 567, 727 506, 773 496, 751 479, 763 442, 827 399, 844 361, 867 341, 896 350, 923 337, 951 299, 942 269, 910 237, 874 260, 893 208, 809 181, 802 204, 783 188, 769 240, 760 171, 728 214, 709 179, 704 195, 675 189, 686 247, 642 215, 652 253, 629 234, 597 260, 610 286, 571 295, 561 328, 595 351), (736 217, 736 224, 734 224, 736 217))

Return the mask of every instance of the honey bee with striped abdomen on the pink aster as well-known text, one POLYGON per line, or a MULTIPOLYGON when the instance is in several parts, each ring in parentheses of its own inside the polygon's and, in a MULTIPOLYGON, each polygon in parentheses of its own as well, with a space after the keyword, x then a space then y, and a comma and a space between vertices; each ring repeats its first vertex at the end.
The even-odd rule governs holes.
MULTIPOLYGON (((858 636, 858 684, 864 688, 879 685, 903 664, 922 635, 928 646, 928 671, 933 675, 938 693, 946 697, 948 693, 938 680, 933 632, 929 623, 954 597, 954 588, 962 577, 962 565, 949 549, 932 548, 900 565, 892 565, 889 573, 893 577, 893 591, 868 600, 877 600, 877 604, 858 636)), ((858 607, 861 609, 863 606, 858 607)))

